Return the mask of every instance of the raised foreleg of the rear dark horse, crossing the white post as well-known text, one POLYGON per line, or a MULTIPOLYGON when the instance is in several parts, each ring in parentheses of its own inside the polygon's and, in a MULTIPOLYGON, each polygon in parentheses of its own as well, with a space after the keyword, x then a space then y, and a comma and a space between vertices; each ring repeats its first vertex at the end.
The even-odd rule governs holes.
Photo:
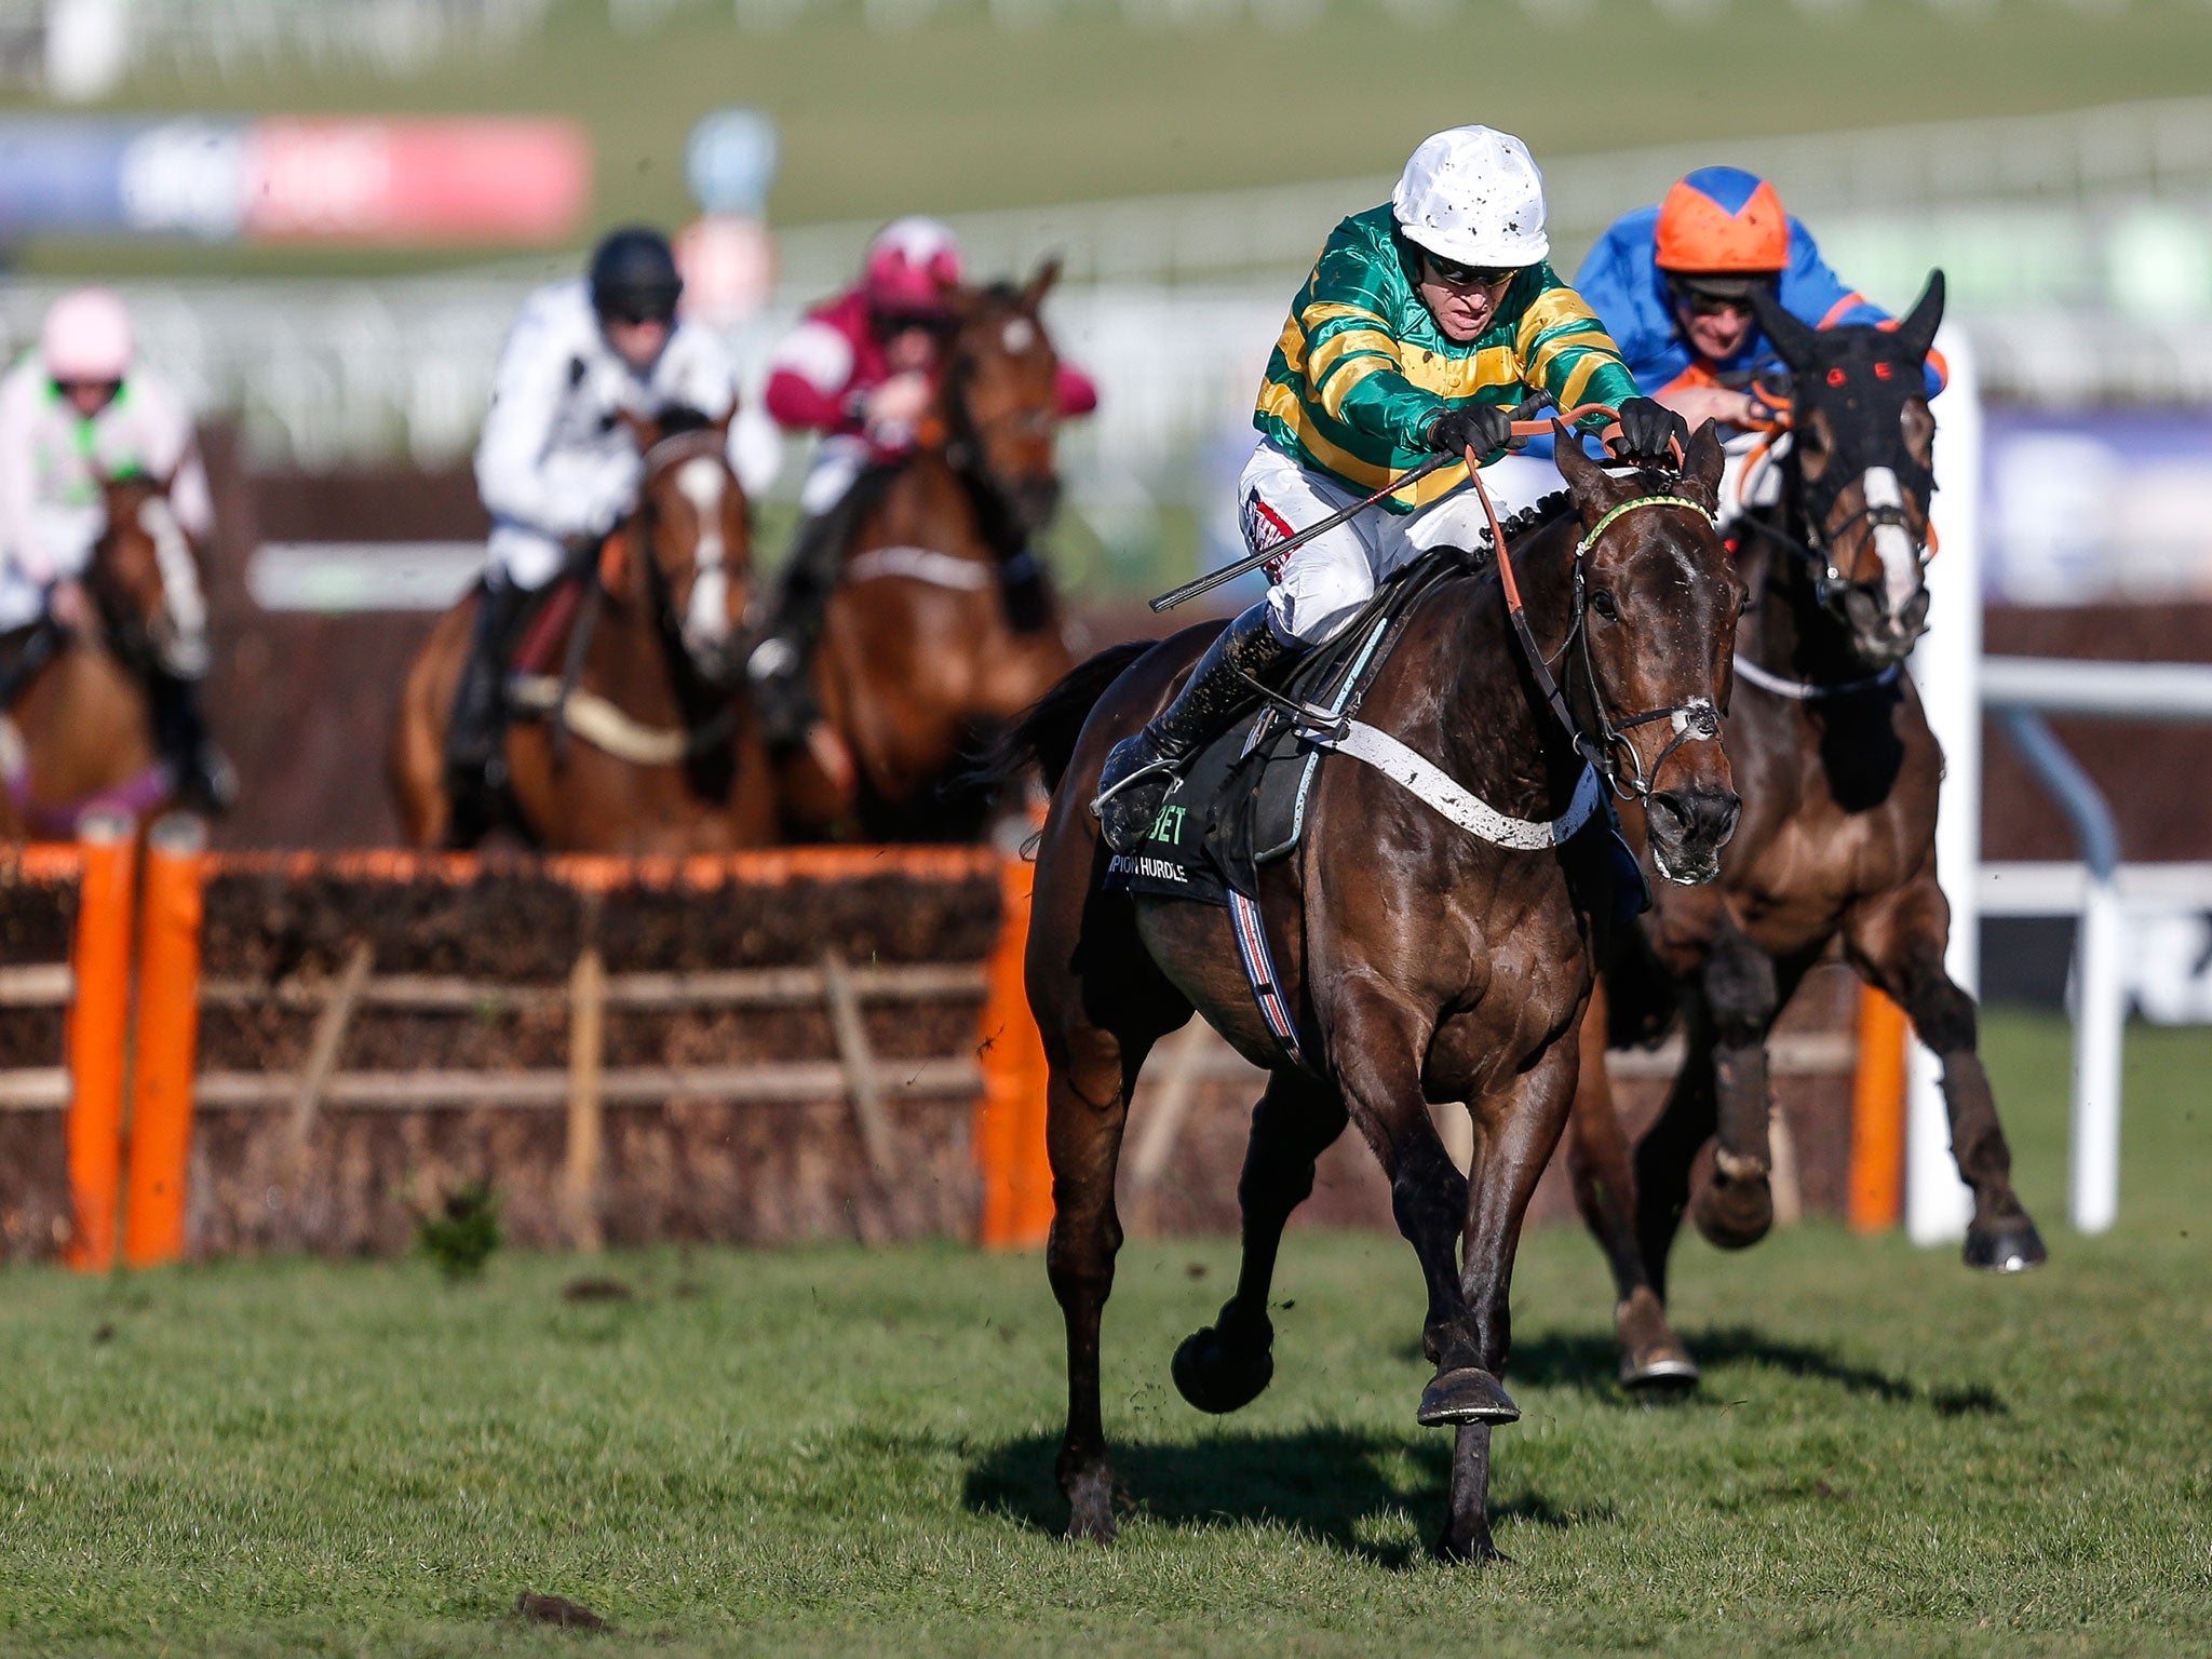
POLYGON ((1973 998, 1944 971, 1949 940, 1951 905, 1936 885, 1933 854, 1909 883, 1863 900, 1843 922, 1851 967, 1905 1009, 1942 1062, 1951 1157, 1973 1188, 1966 1265, 2022 1272, 2046 1259, 2044 1241, 2013 1192, 2013 1152, 1982 1068, 1973 998))

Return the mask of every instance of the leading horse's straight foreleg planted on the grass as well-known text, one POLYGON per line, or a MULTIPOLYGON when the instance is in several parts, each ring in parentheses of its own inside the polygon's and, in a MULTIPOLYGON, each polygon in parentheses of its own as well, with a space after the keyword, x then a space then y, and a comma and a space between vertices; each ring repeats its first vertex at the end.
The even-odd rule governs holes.
POLYGON ((1453 1562, 1504 1559, 1491 1542, 1491 1427, 1520 1409, 1495 1378, 1513 1347, 1513 1252, 1537 1177, 1559 1146, 1575 1104, 1577 1042, 1568 1033, 1495 1095, 1475 1104, 1475 1157, 1467 1192, 1467 1267, 1460 1298, 1473 1325, 1482 1374, 1500 1409, 1460 1420, 1451 1447, 1451 1517, 1436 1544, 1453 1562))

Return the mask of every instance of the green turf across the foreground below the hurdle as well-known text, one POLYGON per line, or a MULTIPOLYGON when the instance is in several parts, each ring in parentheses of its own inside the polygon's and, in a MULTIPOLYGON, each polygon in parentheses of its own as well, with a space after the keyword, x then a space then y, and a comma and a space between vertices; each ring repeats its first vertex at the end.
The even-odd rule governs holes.
POLYGON ((1500 1542, 1447 1571, 1418 1285, 1298 1234, 1274 1389, 1166 1380, 1225 1243, 1130 1245, 1108 1427, 1133 1511, 1053 1540, 1057 1318, 960 1248, 0 1274, 0 1650, 2212 1652, 2212 1033, 2130 1035, 2124 1228, 2059 1225, 2064 1031, 1991 1057, 2053 1263, 1827 1225, 1686 1245, 1699 1402, 1613 1391, 1595 1252, 1533 1237, 1500 1542), (526 1628, 568 1595, 611 1637, 526 1628))

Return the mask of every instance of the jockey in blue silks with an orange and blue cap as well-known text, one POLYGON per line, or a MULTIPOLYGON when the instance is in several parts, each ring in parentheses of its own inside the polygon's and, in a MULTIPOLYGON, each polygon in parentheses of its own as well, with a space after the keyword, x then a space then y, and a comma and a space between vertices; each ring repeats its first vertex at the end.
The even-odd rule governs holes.
MULTIPOLYGON (((1575 288, 1606 319, 1637 383, 1692 427, 1763 418, 1747 380, 1776 358, 1752 312, 1754 290, 1812 327, 1891 323, 1827 268, 1774 186, 1743 168, 1699 168, 1657 208, 1617 219, 1575 288)), ((1929 396, 1942 385, 1942 356, 1929 354, 1929 396)))

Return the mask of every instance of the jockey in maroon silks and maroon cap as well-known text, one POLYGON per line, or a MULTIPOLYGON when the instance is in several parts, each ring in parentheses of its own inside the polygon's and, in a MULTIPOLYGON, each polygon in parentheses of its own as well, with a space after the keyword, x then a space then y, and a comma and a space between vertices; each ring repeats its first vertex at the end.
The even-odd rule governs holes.
MULTIPOLYGON (((783 564, 774 622, 748 664, 770 741, 794 743, 814 721, 805 670, 854 529, 838 509, 872 460, 900 460, 914 449, 964 274, 947 226, 894 219, 867 246, 858 285, 810 310, 770 358, 768 414, 785 431, 823 434, 799 491, 803 520, 783 564)), ((1057 389, 1062 416, 1097 407, 1097 387, 1064 363, 1057 389)))

